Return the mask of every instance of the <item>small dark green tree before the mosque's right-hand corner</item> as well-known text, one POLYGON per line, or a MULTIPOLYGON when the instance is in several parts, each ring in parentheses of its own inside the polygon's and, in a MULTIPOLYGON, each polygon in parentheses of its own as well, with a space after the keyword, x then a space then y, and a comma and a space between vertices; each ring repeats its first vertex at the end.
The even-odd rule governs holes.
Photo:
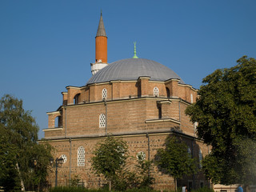
POLYGON ((165 149, 158 149, 155 161, 162 172, 174 177, 175 190, 177 190, 178 178, 196 172, 195 161, 188 153, 186 143, 178 138, 167 137, 165 145, 165 149))

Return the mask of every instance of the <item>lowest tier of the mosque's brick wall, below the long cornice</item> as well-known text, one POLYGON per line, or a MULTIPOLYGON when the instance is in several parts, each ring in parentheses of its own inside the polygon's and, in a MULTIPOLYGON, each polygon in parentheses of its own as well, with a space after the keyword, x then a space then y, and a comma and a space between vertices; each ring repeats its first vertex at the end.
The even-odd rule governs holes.
MULTIPOLYGON (((136 164, 136 155, 138 152, 144 152, 146 154, 146 159, 148 159, 148 155, 150 154, 150 160, 154 160, 155 154, 159 148, 164 147, 164 143, 166 141, 166 137, 170 134, 149 134, 150 143, 148 143, 148 138, 146 134, 138 134, 138 135, 126 135, 123 136, 122 139, 126 141, 129 155, 134 158, 128 158, 128 163, 131 167, 134 167, 136 164), (150 153, 148 148, 150 147, 150 153)), ((65 154, 67 157, 67 161, 62 165, 61 168, 58 168, 58 185, 65 186, 68 182, 69 178, 73 178, 74 175, 78 175, 83 182, 86 183, 86 186, 97 188, 98 182, 104 182, 104 178, 98 177, 94 174, 94 170, 91 167, 91 158, 93 157, 92 152, 95 149, 97 142, 102 141, 103 138, 77 138, 72 139, 71 142, 69 139, 62 139, 59 141, 49 141, 52 146, 54 146, 54 156, 60 157, 65 154), (78 147, 83 146, 85 148, 85 166, 78 166, 78 147), (70 148, 71 148, 71 158, 70 158, 70 148), (71 162, 70 162, 71 161, 71 162), (71 168, 70 168, 71 167, 71 168)), ((198 150, 201 149, 205 152, 208 150, 207 147, 202 145, 202 142, 191 142, 187 138, 182 138, 183 141, 187 143, 190 148, 194 147, 194 157, 198 156, 198 150), (193 145, 193 147, 192 147, 193 145)), ((154 176, 155 181, 162 183, 169 183, 169 188, 174 187, 172 184, 174 182, 174 178, 170 177, 168 174, 162 174, 159 172, 158 168, 153 165, 152 167, 152 175, 154 176)), ((204 177, 202 173, 194 175, 195 181, 197 185, 199 185, 200 181, 204 181, 204 177)), ((54 186, 54 169, 53 172, 50 173, 50 181, 54 186)), ((188 177, 192 179, 192 177, 188 177)), ((180 181, 180 183, 185 181, 180 181)), ((205 181, 206 182, 206 181, 205 181)), ((167 187, 166 186, 166 187, 167 187)))

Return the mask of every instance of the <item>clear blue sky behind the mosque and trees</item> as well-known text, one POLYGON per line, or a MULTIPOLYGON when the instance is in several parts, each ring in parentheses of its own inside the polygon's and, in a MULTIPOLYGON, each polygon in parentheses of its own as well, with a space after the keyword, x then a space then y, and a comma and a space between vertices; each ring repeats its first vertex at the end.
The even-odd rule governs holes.
POLYGON ((12 94, 42 129, 66 86, 84 86, 94 62, 100 11, 108 62, 160 62, 199 88, 218 68, 256 58, 255 0, 1 0, 0 97, 12 94))

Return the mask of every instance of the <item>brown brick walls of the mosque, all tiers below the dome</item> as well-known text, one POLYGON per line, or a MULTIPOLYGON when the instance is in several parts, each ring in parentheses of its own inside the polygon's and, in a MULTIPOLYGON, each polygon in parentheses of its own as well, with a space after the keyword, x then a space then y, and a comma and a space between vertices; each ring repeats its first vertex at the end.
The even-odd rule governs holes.
MULTIPOLYGON (((79 178, 86 182, 86 186, 97 188, 102 185, 104 178, 94 174, 90 159, 96 143, 104 139, 106 131, 107 134, 122 135, 133 157, 143 151, 148 158, 148 133, 150 159, 154 159, 156 151, 164 146, 166 137, 172 130, 187 135, 183 138, 188 146, 194 149, 194 155, 198 157, 199 149, 202 150, 203 156, 206 155, 208 147, 192 139, 195 136, 194 125, 185 114, 186 107, 190 102, 195 102, 197 97, 197 90, 188 85, 180 85, 175 79, 152 82, 150 78, 142 77, 138 81, 67 87, 67 93, 63 93, 63 104, 67 105, 49 113, 49 129, 45 131, 47 142, 56 149, 54 157, 60 157, 62 154, 67 157, 67 162, 59 168, 58 182, 66 185, 70 177, 79 175, 79 178), (154 97, 154 87, 158 87, 158 97, 154 97), (106 102, 102 101, 104 88, 107 90, 106 102), (166 88, 170 90, 170 98, 167 98, 166 88), (78 104, 74 104, 74 96, 78 94, 78 104), (106 115, 106 126, 101 128, 100 114, 106 115), (54 128, 54 118, 59 115, 62 128, 54 128), (85 166, 78 166, 79 146, 83 146, 86 151, 85 166)), ((174 187, 174 179, 158 172, 156 167, 154 178, 164 183, 164 186, 174 187)), ((180 183, 187 182, 188 179, 191 177, 181 180, 180 183)), ((194 179, 197 183, 204 180, 202 173, 197 174, 194 179)), ((54 185, 54 172, 50 174, 50 181, 54 185)))

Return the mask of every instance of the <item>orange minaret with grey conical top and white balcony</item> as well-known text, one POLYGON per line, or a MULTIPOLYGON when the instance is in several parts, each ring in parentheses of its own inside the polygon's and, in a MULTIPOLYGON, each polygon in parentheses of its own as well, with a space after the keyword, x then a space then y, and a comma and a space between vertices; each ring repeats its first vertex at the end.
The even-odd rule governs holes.
POLYGON ((96 74, 98 70, 101 70, 107 63, 107 37, 106 30, 102 19, 99 19, 98 30, 95 37, 95 62, 90 63, 90 69, 92 74, 96 74))

